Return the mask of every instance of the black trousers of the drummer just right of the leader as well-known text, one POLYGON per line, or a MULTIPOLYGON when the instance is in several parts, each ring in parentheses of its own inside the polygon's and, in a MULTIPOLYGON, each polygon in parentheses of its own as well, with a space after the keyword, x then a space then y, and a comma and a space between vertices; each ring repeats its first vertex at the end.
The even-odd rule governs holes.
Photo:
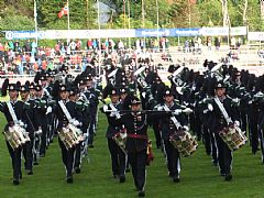
POLYGON ((163 142, 165 145, 169 176, 178 176, 180 170, 179 152, 170 144, 168 139, 163 140, 163 142))

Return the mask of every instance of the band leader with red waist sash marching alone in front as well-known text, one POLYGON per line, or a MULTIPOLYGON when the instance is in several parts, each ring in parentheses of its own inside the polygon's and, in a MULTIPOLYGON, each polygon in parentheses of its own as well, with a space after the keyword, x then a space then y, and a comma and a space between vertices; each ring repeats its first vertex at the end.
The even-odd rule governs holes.
POLYGON ((131 112, 121 116, 121 122, 124 124, 128 133, 125 148, 128 151, 129 162, 132 167, 134 185, 139 190, 139 196, 144 197, 145 173, 146 173, 146 150, 147 150, 147 127, 150 120, 160 117, 168 117, 170 112, 146 113, 141 111, 141 101, 136 97, 131 97, 131 112))

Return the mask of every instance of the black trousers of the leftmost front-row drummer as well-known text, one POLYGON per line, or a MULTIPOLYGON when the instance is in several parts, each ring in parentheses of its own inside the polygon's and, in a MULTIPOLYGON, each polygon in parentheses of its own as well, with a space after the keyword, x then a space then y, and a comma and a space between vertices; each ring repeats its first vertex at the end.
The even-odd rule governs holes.
POLYGON ((13 167, 13 179, 19 180, 20 177, 22 177, 21 172, 21 151, 22 147, 19 146, 13 151, 13 148, 10 146, 10 144, 6 141, 10 157, 12 160, 12 167, 13 167))

